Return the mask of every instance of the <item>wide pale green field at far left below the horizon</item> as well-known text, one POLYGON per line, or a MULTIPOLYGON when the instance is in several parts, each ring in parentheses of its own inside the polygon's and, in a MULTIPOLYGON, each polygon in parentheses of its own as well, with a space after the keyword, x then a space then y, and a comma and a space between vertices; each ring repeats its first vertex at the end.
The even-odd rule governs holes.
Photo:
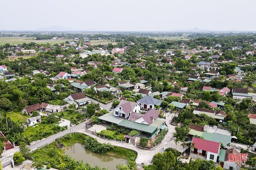
POLYGON ((0 37, 0 45, 4 45, 9 43, 10 45, 13 44, 23 44, 23 43, 30 43, 35 42, 37 44, 46 44, 49 43, 50 45, 65 43, 66 40, 35 40, 36 38, 32 37, 0 37))

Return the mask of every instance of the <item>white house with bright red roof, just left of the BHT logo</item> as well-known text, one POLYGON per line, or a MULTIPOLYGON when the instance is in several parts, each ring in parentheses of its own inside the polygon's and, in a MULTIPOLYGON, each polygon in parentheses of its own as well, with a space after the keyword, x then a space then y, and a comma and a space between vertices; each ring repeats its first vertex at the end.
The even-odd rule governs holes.
POLYGON ((191 146, 192 145, 194 145, 194 148, 191 148, 191 155, 193 155, 193 157, 206 159, 208 161, 213 160, 215 163, 217 162, 220 149, 219 142, 213 142, 193 137, 191 146))

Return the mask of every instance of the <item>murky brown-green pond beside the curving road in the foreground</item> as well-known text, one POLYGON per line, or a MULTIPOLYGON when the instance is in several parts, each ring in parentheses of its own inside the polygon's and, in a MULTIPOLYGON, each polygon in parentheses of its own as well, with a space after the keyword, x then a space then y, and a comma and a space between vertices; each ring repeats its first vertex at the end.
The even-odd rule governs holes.
POLYGON ((91 166, 105 167, 109 170, 116 170, 116 164, 128 164, 128 160, 116 158, 115 155, 100 155, 84 149, 84 145, 75 143, 67 147, 65 154, 70 154, 76 160, 82 160, 83 163, 90 163, 91 166))

